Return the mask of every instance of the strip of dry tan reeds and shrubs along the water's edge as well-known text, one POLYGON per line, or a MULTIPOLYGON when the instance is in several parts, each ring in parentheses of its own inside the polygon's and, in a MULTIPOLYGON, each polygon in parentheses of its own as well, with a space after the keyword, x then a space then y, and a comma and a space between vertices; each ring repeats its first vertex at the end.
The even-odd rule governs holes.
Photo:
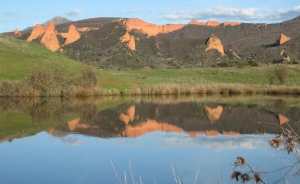
MULTIPOLYGON (((6 89, 7 90, 7 89, 6 89)), ((300 86, 250 85, 250 84, 158 84, 137 86, 127 90, 103 89, 99 87, 83 88, 75 86, 68 93, 61 89, 44 92, 41 89, 27 88, 28 91, 8 89, 10 93, 0 91, 0 97, 76 97, 76 96, 125 96, 159 94, 296 94, 300 95, 300 86), (11 92, 13 91, 13 92, 11 92)))

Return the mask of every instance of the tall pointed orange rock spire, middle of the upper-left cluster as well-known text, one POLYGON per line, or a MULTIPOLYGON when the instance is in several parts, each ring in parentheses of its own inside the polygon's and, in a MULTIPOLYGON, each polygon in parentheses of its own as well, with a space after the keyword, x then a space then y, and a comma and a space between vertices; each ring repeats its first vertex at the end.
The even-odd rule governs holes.
POLYGON ((43 43, 46 48, 52 51, 58 50, 60 48, 60 44, 58 42, 56 34, 57 32, 55 31, 55 25, 53 21, 51 21, 47 27, 44 36, 41 39, 41 43, 43 43))

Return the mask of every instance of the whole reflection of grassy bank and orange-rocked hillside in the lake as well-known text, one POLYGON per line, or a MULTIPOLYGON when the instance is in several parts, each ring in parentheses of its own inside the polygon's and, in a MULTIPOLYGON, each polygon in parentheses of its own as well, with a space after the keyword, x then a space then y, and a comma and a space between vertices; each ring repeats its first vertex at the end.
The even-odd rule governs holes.
POLYGON ((0 141, 40 131, 97 137, 137 137, 153 131, 187 132, 192 137, 279 133, 278 127, 256 121, 288 126, 285 122, 293 125, 300 119, 299 103, 293 103, 298 98, 293 101, 291 96, 126 98, 0 98, 0 141))

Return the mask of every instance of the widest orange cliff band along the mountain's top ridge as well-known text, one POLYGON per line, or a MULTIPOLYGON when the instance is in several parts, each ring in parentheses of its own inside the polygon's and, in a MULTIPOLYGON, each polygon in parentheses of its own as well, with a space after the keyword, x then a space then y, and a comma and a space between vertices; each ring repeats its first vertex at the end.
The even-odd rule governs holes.
POLYGON ((125 24, 127 31, 138 29, 141 32, 148 34, 149 36, 155 36, 158 33, 169 33, 184 26, 183 24, 156 25, 145 22, 139 18, 124 18, 121 19, 121 22, 125 24))

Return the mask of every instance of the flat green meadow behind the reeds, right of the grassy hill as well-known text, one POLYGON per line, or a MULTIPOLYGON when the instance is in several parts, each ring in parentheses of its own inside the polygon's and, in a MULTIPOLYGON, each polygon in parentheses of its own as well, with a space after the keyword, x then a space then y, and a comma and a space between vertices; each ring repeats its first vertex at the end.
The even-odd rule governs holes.
MULTIPOLYGON (((289 81, 287 85, 300 85, 300 65, 289 65, 289 81)), ((152 71, 119 71, 111 72, 138 85, 172 83, 172 84, 211 84, 211 83, 241 83, 269 84, 269 75, 275 65, 262 67, 239 68, 200 68, 172 69, 152 71)), ((275 81, 279 83, 279 81, 275 81)))

